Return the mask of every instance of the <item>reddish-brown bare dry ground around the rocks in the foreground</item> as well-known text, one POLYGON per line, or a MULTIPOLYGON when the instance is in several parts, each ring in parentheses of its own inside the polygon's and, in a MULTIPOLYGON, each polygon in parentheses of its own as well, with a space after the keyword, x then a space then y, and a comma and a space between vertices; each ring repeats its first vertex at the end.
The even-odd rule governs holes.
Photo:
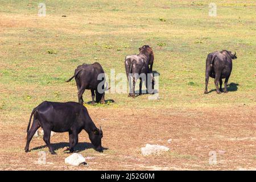
POLYGON ((97 126, 102 127, 102 144, 108 148, 98 153, 90 146, 87 134, 80 134, 76 147, 88 158, 88 166, 71 167, 64 163, 70 155, 63 152, 68 134, 51 138, 57 155, 50 155, 42 137, 32 139, 31 152, 26 154, 27 121, 15 127, 1 126, 0 168, 95 170, 95 169, 251 169, 256 164, 255 107, 225 109, 108 109, 89 110, 97 126), (11 131, 11 132, 10 132, 11 131), (169 142, 168 142, 168 139, 169 142), (170 147, 161 155, 142 156, 146 143, 170 147), (36 164, 39 151, 47 152, 47 163, 36 164), (217 164, 209 164, 209 152, 217 154, 217 164))

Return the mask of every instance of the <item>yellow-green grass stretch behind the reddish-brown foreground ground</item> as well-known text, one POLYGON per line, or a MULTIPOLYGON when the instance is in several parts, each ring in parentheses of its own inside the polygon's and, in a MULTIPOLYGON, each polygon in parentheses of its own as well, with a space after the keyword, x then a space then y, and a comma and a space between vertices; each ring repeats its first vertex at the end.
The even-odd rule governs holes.
MULTIPOLYGON (((128 6, 115 1, 68 0, 65 5, 52 1, 46 2, 47 16, 40 18, 38 3, 29 3, 31 10, 27 1, 1 2, 5 31, 0 35, 0 100, 8 98, 4 108, 21 103, 14 109, 22 113, 23 107, 30 110, 35 101, 77 101, 75 80, 65 82, 77 65, 98 61, 108 75, 110 69, 115 69, 116 74, 125 73, 125 56, 138 53, 144 44, 150 45, 155 54, 153 70, 160 73, 161 99, 149 101, 147 95, 133 99, 127 94, 108 93, 106 100, 115 102, 105 107, 255 105, 255 3, 216 1, 218 12, 214 18, 208 16, 208 3, 203 1, 148 1, 143 6, 136 1, 128 6), (67 18, 60 21, 63 14, 67 18), (11 27, 14 18, 20 24, 11 27), (15 42, 17 46, 13 46, 15 42), (237 52, 229 83, 239 85, 228 94, 205 95, 205 59, 209 52, 222 49, 237 52), (53 94, 56 90, 61 97, 53 94), (24 104, 23 93, 32 97, 24 104)), ((210 78, 208 90, 213 89, 210 78)), ((85 102, 91 101, 89 91, 83 97, 85 102)), ((93 106, 97 107, 102 105, 93 106)))

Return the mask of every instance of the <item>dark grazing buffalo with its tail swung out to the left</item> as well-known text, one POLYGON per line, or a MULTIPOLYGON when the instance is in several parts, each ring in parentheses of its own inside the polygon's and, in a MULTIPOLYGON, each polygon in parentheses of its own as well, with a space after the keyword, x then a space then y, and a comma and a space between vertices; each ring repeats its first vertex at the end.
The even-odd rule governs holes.
POLYGON ((92 93, 92 104, 95 103, 95 93, 96 93, 96 102, 101 102, 101 104, 105 104, 105 73, 103 68, 101 67, 100 63, 93 63, 93 64, 82 64, 79 65, 75 69, 75 74, 67 80, 67 82, 71 81, 75 77, 76 85, 79 92, 78 100, 80 104, 84 103, 82 99, 82 94, 84 93, 85 89, 90 90, 92 93), (100 77, 98 77, 100 76, 100 77))

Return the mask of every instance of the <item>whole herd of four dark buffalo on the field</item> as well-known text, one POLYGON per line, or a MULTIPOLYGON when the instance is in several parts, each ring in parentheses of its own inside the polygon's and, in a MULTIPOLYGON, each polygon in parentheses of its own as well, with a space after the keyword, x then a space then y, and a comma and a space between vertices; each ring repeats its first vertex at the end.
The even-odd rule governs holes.
MULTIPOLYGON (((209 77, 214 78, 214 84, 218 94, 222 91, 222 78, 225 78, 224 92, 227 92, 227 84, 232 71, 232 59, 236 58, 236 52, 233 54, 226 50, 209 53, 205 69, 205 94, 208 93, 209 77), (220 88, 218 82, 220 82, 220 88)), ((129 77, 131 76, 133 81, 129 96, 135 97, 135 83, 138 79, 140 79, 139 94, 142 94, 142 79, 138 77, 141 74, 150 75, 150 81, 146 80, 146 88, 147 90, 149 90, 149 87, 151 90, 152 88, 154 89, 154 76, 152 75, 153 63, 154 53, 152 48, 147 45, 139 48, 138 55, 126 56, 125 69, 127 79, 130 81, 129 77), (148 83, 151 83, 151 85, 148 85, 148 83)), ((98 79, 98 75, 100 74, 105 74, 100 63, 79 65, 75 69, 74 75, 67 80, 68 82, 75 78, 77 89, 79 90, 77 93, 79 103, 44 101, 32 110, 27 127, 26 152, 29 151, 30 141, 39 127, 43 129, 43 140, 46 142, 51 154, 56 154, 50 143, 51 131, 56 133, 68 132, 69 147, 65 151, 74 151, 74 147, 79 140, 78 135, 82 129, 88 133, 89 139, 97 151, 104 149, 101 146, 101 138, 103 137, 101 127, 98 129, 94 125, 86 107, 83 105, 84 100, 82 99, 82 94, 88 89, 92 93, 92 104, 95 103, 95 96, 96 102, 105 103, 105 90, 109 88, 108 86, 104 87, 104 76, 102 79, 98 79), (101 83, 103 84, 98 86, 101 83), (32 117, 33 122, 30 128, 32 117)))

